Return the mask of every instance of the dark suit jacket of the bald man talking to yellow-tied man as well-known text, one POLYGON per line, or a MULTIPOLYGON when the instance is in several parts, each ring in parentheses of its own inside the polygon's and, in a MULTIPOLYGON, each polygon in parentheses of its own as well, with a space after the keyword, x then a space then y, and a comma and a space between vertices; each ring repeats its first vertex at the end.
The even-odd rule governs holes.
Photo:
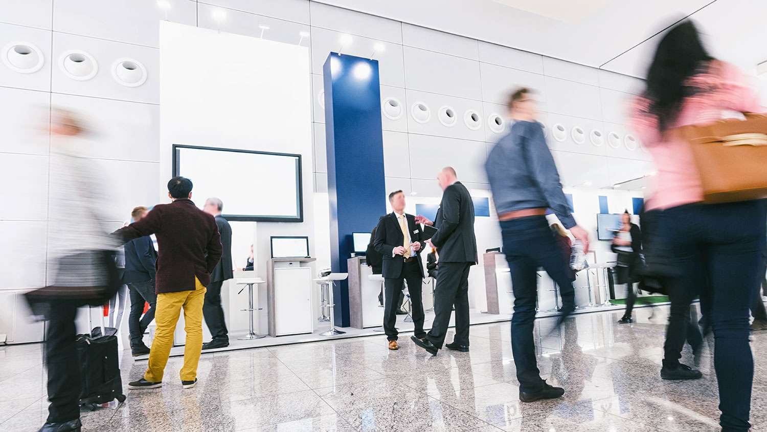
POLYGON ((431 238, 439 252, 439 262, 477 262, 474 235, 474 202, 461 182, 448 186, 436 212, 431 238))

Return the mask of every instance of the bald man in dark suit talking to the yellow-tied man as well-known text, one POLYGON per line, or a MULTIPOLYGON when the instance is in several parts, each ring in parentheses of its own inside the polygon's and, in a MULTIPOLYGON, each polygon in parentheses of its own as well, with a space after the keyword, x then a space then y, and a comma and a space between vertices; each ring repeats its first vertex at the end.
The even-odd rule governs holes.
POLYGON ((436 218, 433 222, 423 216, 416 218, 416 222, 437 229, 426 240, 426 244, 439 253, 434 301, 436 316, 426 338, 412 338, 431 355, 436 355, 445 342, 453 305, 456 308, 456 336, 453 343, 445 346, 456 351, 469 351, 469 268, 477 263, 472 196, 458 181, 453 167, 443 168, 436 178, 443 190, 436 218))

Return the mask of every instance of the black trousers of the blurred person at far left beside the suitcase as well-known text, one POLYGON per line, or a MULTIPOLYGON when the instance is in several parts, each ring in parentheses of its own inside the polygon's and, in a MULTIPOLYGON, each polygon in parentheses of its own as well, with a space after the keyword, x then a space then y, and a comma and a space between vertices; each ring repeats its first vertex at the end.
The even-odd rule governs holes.
POLYGON ((48 366, 48 422, 61 423, 80 418, 80 361, 74 345, 77 334, 74 300, 57 300, 48 311, 45 337, 45 364, 48 366))

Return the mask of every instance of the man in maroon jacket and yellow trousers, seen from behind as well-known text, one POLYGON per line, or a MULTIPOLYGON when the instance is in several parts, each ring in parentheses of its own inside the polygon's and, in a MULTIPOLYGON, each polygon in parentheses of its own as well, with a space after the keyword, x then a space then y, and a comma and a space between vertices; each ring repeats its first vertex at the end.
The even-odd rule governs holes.
POLYGON ((202 303, 210 273, 222 255, 216 219, 198 209, 192 202, 192 181, 178 176, 168 182, 170 204, 154 206, 138 222, 114 232, 123 242, 155 234, 157 246, 155 322, 157 325, 149 367, 130 389, 156 388, 163 385, 163 372, 173 345, 173 331, 184 311, 184 364, 181 384, 184 388, 197 383, 197 364, 202 351, 202 303))

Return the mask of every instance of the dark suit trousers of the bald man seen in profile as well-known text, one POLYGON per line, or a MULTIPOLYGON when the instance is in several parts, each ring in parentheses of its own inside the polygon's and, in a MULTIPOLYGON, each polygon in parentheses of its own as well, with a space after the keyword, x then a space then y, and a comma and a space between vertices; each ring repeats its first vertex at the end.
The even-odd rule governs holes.
POLYGON ((442 348, 456 306, 456 337, 453 343, 469 345, 469 269, 473 262, 439 262, 434 293, 434 322, 426 338, 442 348))

